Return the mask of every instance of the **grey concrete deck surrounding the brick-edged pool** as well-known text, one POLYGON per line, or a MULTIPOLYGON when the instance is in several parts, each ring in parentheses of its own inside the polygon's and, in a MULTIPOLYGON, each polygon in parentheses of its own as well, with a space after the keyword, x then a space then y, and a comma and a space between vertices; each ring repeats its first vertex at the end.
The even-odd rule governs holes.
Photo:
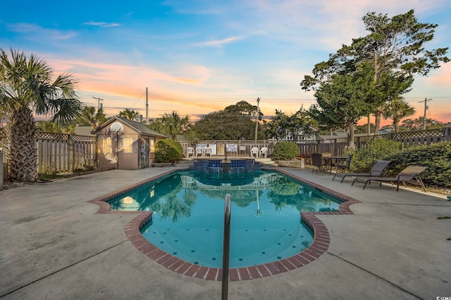
MULTIPOLYGON (((180 275, 125 235, 136 214, 97 214, 102 195, 174 167, 111 170, 0 191, 0 299, 220 299, 221 282, 180 275)), ((451 297, 451 202, 392 186, 284 171, 361 203, 317 216, 330 245, 285 273, 229 282, 229 299, 451 297)))

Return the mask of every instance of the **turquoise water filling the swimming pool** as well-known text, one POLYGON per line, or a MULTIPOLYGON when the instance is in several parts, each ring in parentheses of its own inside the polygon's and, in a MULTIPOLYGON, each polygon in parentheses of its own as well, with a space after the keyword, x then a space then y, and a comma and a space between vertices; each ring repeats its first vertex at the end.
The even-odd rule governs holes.
POLYGON ((113 210, 154 211, 141 230, 156 247, 190 263, 221 268, 224 199, 232 200, 230 268, 293 256, 313 233, 302 211, 338 211, 339 200, 274 171, 178 171, 109 201, 113 210))

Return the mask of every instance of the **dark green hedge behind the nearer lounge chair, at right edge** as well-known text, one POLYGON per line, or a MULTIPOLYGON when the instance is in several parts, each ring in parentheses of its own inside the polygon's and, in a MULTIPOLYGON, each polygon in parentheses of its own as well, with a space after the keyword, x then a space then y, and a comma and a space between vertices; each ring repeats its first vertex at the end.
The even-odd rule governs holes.
POLYGON ((428 167, 421 173, 425 184, 451 187, 451 142, 412 147, 387 159, 392 161, 387 168, 391 175, 407 166, 419 165, 428 167))

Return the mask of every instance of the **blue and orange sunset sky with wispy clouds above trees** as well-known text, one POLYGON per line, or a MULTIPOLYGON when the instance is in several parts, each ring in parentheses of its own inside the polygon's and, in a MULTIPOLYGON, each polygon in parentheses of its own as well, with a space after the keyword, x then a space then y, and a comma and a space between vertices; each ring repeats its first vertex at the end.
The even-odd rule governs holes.
MULTIPOLYGON (((106 115, 173 110, 199 116, 240 100, 265 116, 315 103, 299 83, 342 44, 363 37, 362 17, 415 10, 438 24, 426 48, 451 44, 450 0, 2 1, 0 48, 34 53, 80 81, 82 103, 106 115)), ((450 51, 447 53, 451 57, 450 51)), ((416 115, 451 122, 451 63, 416 77, 405 95, 416 115)), ((363 120, 362 120, 363 121, 363 120)), ((371 119, 371 122, 374 122, 371 119)))

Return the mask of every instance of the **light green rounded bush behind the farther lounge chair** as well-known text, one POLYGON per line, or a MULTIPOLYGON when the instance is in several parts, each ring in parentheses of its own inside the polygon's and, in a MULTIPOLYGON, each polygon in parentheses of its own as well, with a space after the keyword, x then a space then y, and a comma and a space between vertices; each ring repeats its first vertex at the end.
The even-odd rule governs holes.
POLYGON ((378 138, 368 143, 366 147, 354 151, 350 169, 351 171, 367 172, 379 159, 386 159, 401 151, 401 142, 378 138))

